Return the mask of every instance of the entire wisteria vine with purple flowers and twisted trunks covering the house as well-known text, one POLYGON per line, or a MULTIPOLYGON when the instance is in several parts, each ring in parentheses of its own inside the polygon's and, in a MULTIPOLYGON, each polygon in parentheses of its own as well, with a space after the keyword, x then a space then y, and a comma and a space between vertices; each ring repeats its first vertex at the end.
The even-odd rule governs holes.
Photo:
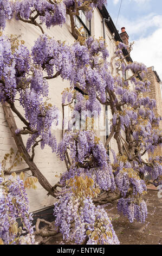
MULTIPOLYGON (((105 41, 93 36, 86 39, 75 28, 74 17, 79 16, 80 10, 90 20, 94 8, 102 8, 106 2, 0 0, 0 29, 5 29, 7 20, 16 15, 18 21, 37 26, 42 32, 31 51, 17 36, 7 37, 0 32, 0 102, 12 137, 33 176, 48 194, 59 199, 54 209, 56 227, 64 239, 74 239, 76 243, 119 244, 111 218, 99 205, 118 200, 118 211, 130 222, 145 222, 145 174, 151 175, 155 186, 161 184, 162 176, 161 157, 155 154, 155 149, 161 144, 158 126, 161 117, 154 114, 156 102, 143 95, 150 87, 145 76, 146 66, 128 63, 123 51, 126 50, 129 56, 131 46, 122 42, 116 42, 109 63, 105 41), (73 45, 56 41, 43 29, 45 26, 47 29, 63 26, 66 15, 70 16, 72 34, 76 39, 73 45), (128 72, 132 75, 124 78, 128 72), (62 139, 57 144, 51 127, 53 123, 58 124, 59 114, 48 99, 48 80, 58 76, 70 84, 62 93, 62 109, 71 106, 75 120, 76 113, 80 120, 84 111, 85 123, 88 118, 93 123, 100 116, 102 106, 109 108, 112 120, 105 145, 95 134, 93 125, 90 129, 87 125, 85 129, 76 129, 75 122, 70 123, 73 121, 70 120, 65 131, 64 117, 62 139), (16 100, 24 114, 16 108, 16 100), (16 126, 13 112, 23 122, 23 127, 16 126), (73 125, 75 129, 72 130, 73 125), (26 147, 22 135, 28 135, 26 147), (107 154, 112 138, 118 145, 118 152, 112 150, 114 161, 107 154), (39 144, 41 149, 48 145, 61 161, 66 162, 67 170, 54 186, 34 163, 35 147, 39 144), (148 160, 144 160, 145 154, 148 154, 148 160), (61 191, 57 187, 61 187, 61 191)), ((0 239, 7 244, 34 243, 22 181, 19 178, 5 180, 1 173, 0 188, 3 190, 0 239), (17 217, 22 218, 23 227, 29 233, 27 236, 21 236, 17 217)))

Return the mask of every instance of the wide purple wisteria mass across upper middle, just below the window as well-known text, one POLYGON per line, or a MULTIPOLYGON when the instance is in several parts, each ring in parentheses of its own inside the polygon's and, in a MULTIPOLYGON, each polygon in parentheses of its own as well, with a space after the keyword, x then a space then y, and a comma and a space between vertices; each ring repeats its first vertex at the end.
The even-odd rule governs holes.
POLYGON ((41 65, 48 76, 52 77, 55 70, 73 86, 79 83, 80 88, 90 95, 91 101, 95 100, 98 93, 101 101, 105 102, 106 88, 113 89, 114 80, 106 61, 108 51, 101 39, 90 37, 85 45, 80 45, 77 41, 69 46, 47 35, 41 35, 36 40, 32 53, 34 63, 41 65))

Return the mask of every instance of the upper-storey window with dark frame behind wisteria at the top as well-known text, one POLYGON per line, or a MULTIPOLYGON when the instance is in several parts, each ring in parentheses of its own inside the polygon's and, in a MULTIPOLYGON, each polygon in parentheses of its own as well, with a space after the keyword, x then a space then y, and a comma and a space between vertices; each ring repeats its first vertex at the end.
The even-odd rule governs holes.
POLYGON ((86 38, 90 36, 90 21, 87 20, 85 16, 85 11, 80 10, 79 16, 75 16, 75 26, 77 29, 83 27, 83 32, 86 38))

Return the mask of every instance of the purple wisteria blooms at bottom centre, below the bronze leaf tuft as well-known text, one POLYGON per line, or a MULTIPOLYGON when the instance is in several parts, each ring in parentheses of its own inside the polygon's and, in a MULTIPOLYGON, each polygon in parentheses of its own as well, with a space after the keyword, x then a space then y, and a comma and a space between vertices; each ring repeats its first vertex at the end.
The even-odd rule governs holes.
POLYGON ((90 197, 79 198, 67 192, 55 203, 54 216, 56 227, 67 241, 75 240, 76 244, 81 244, 86 240, 87 245, 119 244, 106 211, 96 207, 90 197))

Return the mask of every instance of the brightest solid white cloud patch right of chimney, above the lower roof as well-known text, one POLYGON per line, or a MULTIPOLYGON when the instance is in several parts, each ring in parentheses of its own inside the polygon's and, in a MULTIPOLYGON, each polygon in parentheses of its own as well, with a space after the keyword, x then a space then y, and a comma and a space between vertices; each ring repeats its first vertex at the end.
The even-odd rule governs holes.
POLYGON ((133 61, 142 62, 147 67, 154 66, 162 81, 162 27, 152 35, 135 42, 131 57, 133 61))

